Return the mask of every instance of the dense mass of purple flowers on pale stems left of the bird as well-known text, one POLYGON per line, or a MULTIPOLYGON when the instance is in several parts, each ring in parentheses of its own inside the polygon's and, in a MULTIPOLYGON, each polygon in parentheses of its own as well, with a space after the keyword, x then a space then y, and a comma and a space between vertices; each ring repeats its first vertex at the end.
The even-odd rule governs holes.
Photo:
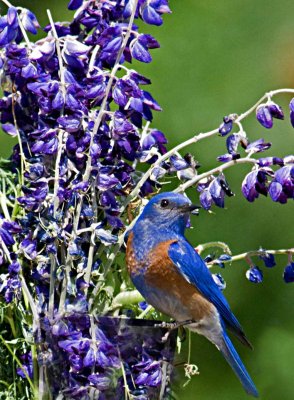
MULTIPOLYGON (((124 365, 128 384, 143 398, 161 385, 161 351, 150 358, 138 344, 136 354, 118 354, 118 342, 103 331, 90 334, 87 293, 125 224, 121 207, 142 174, 137 163, 166 152, 164 134, 149 128, 153 111, 161 110, 146 90, 151 81, 130 64, 151 62, 159 47, 134 18, 158 26, 170 9, 166 0, 72 0, 68 8, 76 10, 73 20, 51 21, 35 43, 26 36, 39 28, 29 10, 11 6, 1 18, 0 121, 18 144, 3 167, 14 190, 1 187, 0 296, 16 305, 24 296, 30 304, 39 365, 53 376, 64 370, 56 395, 103 393, 113 387, 113 368, 123 390, 124 365), (50 367, 58 360, 59 372, 50 367)), ((150 177, 140 196, 156 185, 150 177)), ((26 370, 31 377, 31 353, 21 361, 19 375, 26 370)))

